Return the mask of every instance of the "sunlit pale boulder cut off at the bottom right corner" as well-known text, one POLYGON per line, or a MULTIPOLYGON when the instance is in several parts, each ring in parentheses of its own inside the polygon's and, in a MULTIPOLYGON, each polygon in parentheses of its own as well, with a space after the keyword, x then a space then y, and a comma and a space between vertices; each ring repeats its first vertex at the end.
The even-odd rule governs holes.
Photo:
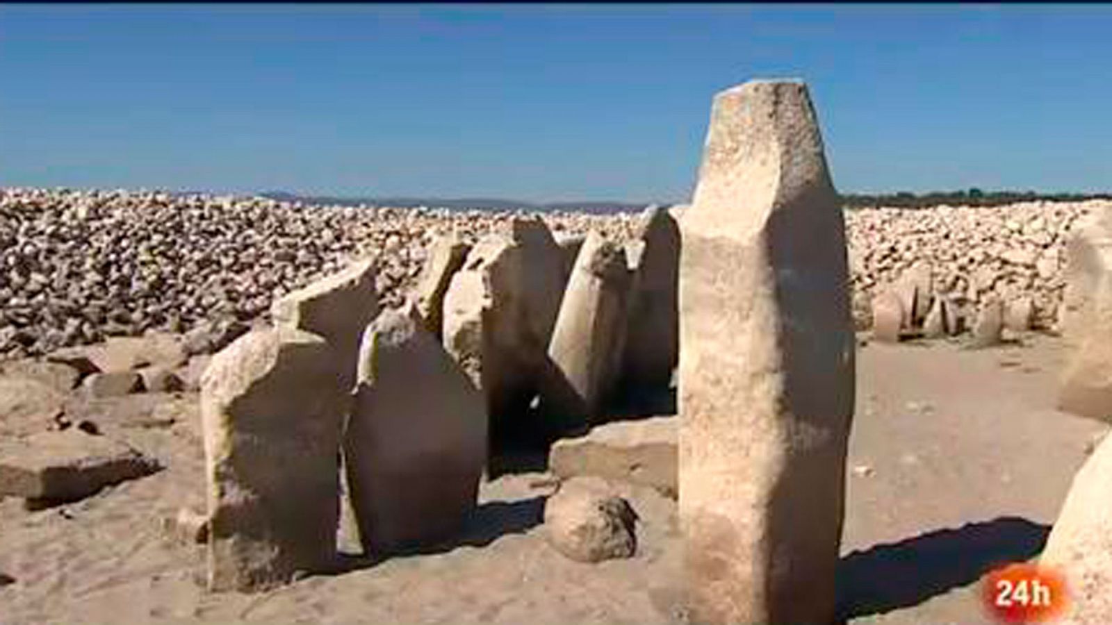
POLYGON ((1069 601, 1054 623, 1112 623, 1112 438, 1105 438, 1073 478, 1040 565, 1065 577, 1069 601))

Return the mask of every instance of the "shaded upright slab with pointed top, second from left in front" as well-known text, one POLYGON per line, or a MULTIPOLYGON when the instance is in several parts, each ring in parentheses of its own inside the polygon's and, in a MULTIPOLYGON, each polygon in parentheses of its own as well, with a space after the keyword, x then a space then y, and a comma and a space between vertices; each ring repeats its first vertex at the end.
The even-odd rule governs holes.
POLYGON ((386 310, 359 351, 344 457, 359 536, 375 556, 457 533, 486 462, 483 396, 423 324, 411 305, 386 310))

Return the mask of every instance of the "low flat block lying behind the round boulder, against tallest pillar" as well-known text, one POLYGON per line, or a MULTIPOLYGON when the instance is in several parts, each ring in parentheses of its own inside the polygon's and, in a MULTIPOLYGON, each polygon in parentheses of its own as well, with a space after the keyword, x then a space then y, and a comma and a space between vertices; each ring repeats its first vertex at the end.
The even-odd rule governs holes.
POLYGON ((675 417, 615 421, 563 438, 548 453, 548 470, 565 479, 593 476, 649 486, 675 498, 677 421, 675 417))

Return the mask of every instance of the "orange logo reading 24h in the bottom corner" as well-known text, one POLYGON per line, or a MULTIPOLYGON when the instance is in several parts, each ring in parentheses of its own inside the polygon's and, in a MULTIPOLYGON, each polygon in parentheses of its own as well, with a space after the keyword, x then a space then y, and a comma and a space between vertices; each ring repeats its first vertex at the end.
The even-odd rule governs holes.
POLYGON ((1046 623, 1065 609, 1065 579, 1053 568, 1013 564, 985 576, 981 596, 1001 623, 1046 623))

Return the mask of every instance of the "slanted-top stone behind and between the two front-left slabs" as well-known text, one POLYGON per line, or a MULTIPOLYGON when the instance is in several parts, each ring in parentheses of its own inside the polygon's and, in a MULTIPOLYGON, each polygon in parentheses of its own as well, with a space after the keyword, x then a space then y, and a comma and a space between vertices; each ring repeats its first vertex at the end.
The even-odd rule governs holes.
POLYGON ((355 380, 359 335, 378 315, 375 261, 359 260, 274 302, 275 325, 319 335, 328 341, 339 363, 346 388, 355 380))

